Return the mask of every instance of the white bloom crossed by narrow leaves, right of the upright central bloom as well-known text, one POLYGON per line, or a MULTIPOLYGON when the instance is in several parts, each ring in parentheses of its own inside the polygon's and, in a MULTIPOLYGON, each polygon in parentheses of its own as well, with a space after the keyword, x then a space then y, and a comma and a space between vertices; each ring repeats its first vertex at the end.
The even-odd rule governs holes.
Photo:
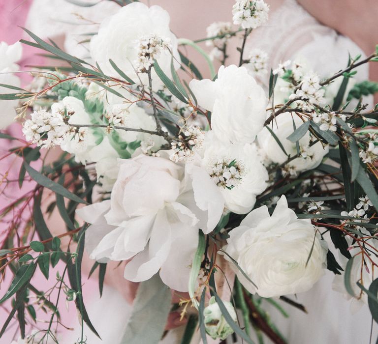
MULTIPOLYGON (((303 121, 297 115, 291 115, 290 113, 278 115, 276 120, 272 122, 273 132, 284 146, 286 153, 290 156, 297 154, 296 144, 287 140, 287 137, 294 131, 293 119, 296 128, 299 128, 299 126, 303 124, 303 121)), ((287 155, 281 149, 268 129, 264 128, 257 135, 257 141, 271 162, 283 164, 287 160, 287 155)), ((294 172, 314 169, 321 163, 323 157, 329 150, 328 146, 323 148, 320 142, 310 146, 310 132, 307 132, 299 140, 299 148, 300 153, 302 154, 301 157, 298 157, 287 164, 294 172)))

